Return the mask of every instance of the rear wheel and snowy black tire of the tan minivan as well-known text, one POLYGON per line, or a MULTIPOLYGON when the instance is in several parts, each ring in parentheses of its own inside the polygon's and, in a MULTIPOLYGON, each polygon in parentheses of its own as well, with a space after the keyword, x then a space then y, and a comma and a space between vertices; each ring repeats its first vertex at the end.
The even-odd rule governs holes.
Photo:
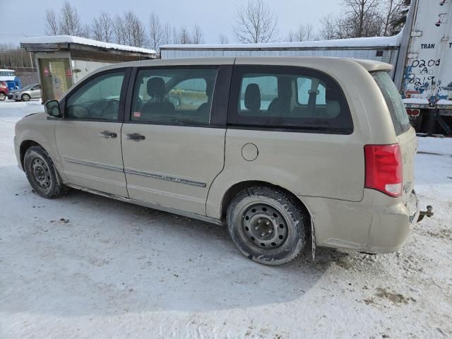
POLYGON ((253 186, 239 192, 227 208, 227 228, 244 256, 265 265, 297 258, 307 243, 307 215, 285 191, 253 186))

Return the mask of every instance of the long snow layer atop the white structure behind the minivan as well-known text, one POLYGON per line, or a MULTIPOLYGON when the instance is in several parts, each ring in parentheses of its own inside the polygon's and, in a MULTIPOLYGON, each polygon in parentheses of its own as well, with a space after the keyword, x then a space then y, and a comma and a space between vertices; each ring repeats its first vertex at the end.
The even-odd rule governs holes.
POLYGON ((323 47, 398 47, 402 32, 392 37, 355 37, 352 39, 305 42, 272 42, 266 44, 164 44, 160 49, 287 49, 323 47))

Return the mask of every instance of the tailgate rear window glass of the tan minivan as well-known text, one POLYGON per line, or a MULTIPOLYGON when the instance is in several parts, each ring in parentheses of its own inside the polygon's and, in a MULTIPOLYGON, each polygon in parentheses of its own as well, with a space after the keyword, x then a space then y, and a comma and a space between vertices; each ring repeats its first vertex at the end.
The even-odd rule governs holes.
POLYGON ((400 96, 400 93, 398 93, 396 85, 394 85, 391 77, 386 72, 375 72, 372 73, 372 76, 377 85, 379 85, 384 100, 386 100, 386 105, 388 105, 394 129, 396 130, 396 135, 408 131, 408 129, 410 129, 410 119, 408 119, 402 97, 400 96))

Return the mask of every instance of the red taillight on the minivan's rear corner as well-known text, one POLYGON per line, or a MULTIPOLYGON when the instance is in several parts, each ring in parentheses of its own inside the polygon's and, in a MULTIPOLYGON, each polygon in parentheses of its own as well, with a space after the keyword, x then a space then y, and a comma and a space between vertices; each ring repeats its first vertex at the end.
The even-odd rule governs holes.
POLYGON ((366 162, 365 188, 376 189, 393 197, 402 195, 402 154, 397 143, 365 145, 364 159, 366 162))

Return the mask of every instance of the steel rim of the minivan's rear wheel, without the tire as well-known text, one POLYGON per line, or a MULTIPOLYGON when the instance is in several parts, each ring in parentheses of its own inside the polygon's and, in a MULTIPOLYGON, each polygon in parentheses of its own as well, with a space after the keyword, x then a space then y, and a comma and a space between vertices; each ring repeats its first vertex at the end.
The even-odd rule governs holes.
POLYGON ((289 230, 283 213, 268 203, 251 203, 240 211, 239 230, 244 241, 261 251, 284 246, 289 230))

